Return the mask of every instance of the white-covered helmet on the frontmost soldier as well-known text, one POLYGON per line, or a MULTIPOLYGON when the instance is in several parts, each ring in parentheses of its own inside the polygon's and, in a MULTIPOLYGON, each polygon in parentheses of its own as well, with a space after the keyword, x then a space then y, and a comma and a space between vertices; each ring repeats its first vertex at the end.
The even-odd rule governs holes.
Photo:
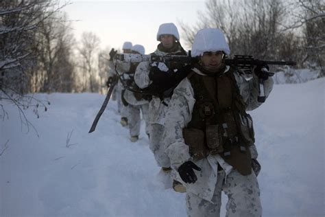
POLYGON ((194 37, 191 56, 201 56, 204 52, 222 51, 230 54, 230 49, 224 33, 217 28, 199 30, 194 37))

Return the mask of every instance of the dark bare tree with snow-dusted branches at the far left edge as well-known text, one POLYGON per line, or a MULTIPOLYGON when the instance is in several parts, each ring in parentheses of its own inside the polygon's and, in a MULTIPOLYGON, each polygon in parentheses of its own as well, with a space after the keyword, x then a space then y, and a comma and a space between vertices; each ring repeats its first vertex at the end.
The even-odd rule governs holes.
POLYGON ((40 23, 64 5, 58 5, 56 0, 0 1, 0 117, 7 114, 5 102, 13 103, 28 130, 32 124, 24 110, 32 107, 38 115, 37 110, 40 107, 46 110, 49 104, 26 94, 29 88, 26 70, 35 63, 32 45, 40 23))

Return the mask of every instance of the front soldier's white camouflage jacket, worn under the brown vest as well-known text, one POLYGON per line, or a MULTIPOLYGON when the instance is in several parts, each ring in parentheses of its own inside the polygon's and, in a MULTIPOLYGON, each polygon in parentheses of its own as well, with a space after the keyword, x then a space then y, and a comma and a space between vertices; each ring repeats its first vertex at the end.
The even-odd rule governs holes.
MULTIPOLYGON (((229 67, 225 70, 228 71, 229 67)), ((193 69, 195 73, 205 76, 198 69, 193 69)), ((239 87, 239 91, 243 96, 243 100, 248 104, 248 111, 256 109, 261 105, 257 102, 258 96, 258 78, 254 75, 251 80, 246 80, 239 73, 235 72, 234 76, 239 87)), ((269 78, 265 80, 265 96, 267 97, 272 91, 273 80, 269 78)), ((184 78, 178 87, 174 89, 173 96, 169 101, 169 108, 166 114, 166 137, 165 137, 165 148, 167 155, 171 159, 171 167, 177 171, 179 166, 186 161, 193 161, 202 170, 196 171, 197 181, 194 184, 187 184, 186 191, 196 194, 200 198, 204 198, 210 201, 213 192, 215 191, 215 183, 217 183, 217 163, 229 174, 232 170, 232 166, 229 165, 219 155, 208 155, 208 157, 201 159, 200 161, 194 161, 189 155, 189 146, 184 143, 182 135, 182 129, 187 126, 191 121, 191 115, 193 106, 195 104, 195 98, 191 82, 188 78, 184 78)), ((252 158, 256 158, 257 152, 255 146, 251 146, 252 158)), ((178 173, 176 173, 178 176, 178 173)), ((178 176, 179 181, 182 182, 178 176)))

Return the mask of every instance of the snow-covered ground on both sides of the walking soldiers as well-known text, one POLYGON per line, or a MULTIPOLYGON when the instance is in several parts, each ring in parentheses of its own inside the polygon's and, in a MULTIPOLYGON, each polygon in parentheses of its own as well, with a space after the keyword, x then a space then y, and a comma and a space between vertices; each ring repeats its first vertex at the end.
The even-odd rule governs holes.
MULTIPOLYGON (((325 216, 324 84, 275 85, 251 112, 263 216, 325 216)), ((0 122, 0 153, 8 141, 0 156, 1 217, 186 216, 184 194, 165 190, 143 129, 131 143, 116 102, 89 134, 104 95, 36 96, 51 102, 39 119, 26 111, 39 138, 26 133, 13 105, 5 105, 9 119, 0 122)))

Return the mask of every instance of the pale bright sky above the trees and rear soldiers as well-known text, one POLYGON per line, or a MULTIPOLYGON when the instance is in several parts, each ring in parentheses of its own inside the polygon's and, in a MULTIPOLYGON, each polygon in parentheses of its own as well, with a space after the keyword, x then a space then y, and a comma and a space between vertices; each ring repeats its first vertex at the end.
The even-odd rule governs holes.
POLYGON ((101 39, 101 49, 114 47, 121 49, 125 41, 145 47, 145 53, 154 52, 158 41, 156 34, 161 23, 175 23, 183 32, 179 21, 194 25, 197 22, 197 10, 205 10, 204 0, 165 0, 165 1, 117 1, 117 0, 72 0, 63 10, 73 22, 77 41, 84 31, 91 31, 101 39))

